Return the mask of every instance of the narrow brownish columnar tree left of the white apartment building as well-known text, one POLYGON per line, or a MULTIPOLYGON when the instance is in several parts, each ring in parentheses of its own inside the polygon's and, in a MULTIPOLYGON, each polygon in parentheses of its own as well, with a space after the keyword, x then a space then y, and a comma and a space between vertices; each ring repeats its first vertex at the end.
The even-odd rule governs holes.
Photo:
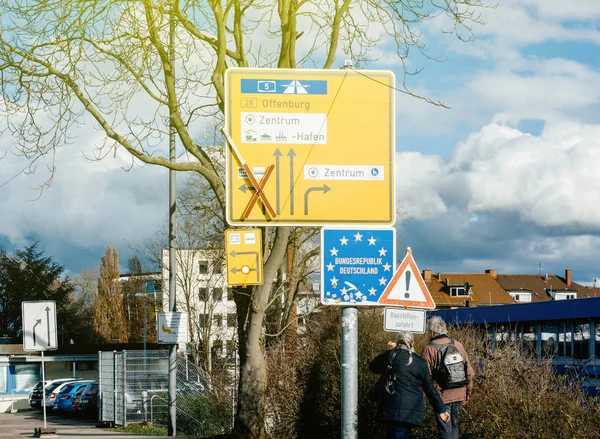
POLYGON ((98 295, 94 302, 94 334, 99 341, 128 341, 121 289, 119 253, 115 248, 107 247, 100 265, 98 295))

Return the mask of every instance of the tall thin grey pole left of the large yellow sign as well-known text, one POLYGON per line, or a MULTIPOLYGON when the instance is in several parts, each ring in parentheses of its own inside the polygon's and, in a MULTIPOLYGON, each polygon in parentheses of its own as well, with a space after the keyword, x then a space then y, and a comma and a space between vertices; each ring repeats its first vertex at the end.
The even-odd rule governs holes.
MULTIPOLYGON (((169 61, 173 74, 175 74, 175 21, 169 17, 169 61)), ((175 152, 175 126, 173 119, 169 123, 169 160, 174 163, 177 160, 175 152)), ((176 212, 176 186, 175 171, 169 170, 169 311, 177 311, 175 303, 177 288, 177 259, 175 253, 175 227, 177 224, 176 212)), ((169 345, 169 414, 167 433, 169 436, 177 435, 177 344, 169 345)))

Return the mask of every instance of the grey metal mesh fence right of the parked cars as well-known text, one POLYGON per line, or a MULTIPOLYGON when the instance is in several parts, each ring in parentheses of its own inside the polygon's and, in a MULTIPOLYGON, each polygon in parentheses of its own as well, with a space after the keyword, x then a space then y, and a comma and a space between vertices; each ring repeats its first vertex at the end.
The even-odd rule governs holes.
MULTIPOLYGON (((98 362, 101 422, 167 425, 168 351, 99 352, 98 362)), ((196 436, 229 432, 232 392, 213 391, 208 377, 185 356, 177 356, 176 366, 177 430, 196 436)))

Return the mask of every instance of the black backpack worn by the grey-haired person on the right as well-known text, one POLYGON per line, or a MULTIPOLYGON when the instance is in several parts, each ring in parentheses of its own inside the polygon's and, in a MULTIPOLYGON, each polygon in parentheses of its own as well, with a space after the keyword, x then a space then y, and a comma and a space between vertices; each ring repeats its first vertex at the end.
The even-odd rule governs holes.
POLYGON ((440 388, 447 390, 466 386, 469 382, 467 379, 467 362, 454 345, 454 340, 450 339, 447 344, 439 344, 433 341, 429 344, 438 353, 437 362, 431 375, 440 388))

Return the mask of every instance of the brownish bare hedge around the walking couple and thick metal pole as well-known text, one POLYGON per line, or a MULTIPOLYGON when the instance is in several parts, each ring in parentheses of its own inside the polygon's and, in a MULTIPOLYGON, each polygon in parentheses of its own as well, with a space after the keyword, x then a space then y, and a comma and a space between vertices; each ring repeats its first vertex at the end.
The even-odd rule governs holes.
MULTIPOLYGON (((305 336, 297 355, 283 355, 276 347, 269 366, 269 433, 273 438, 329 439, 340 437, 341 348, 339 309, 322 309, 305 336), (286 372, 281 371, 286 364, 286 372)), ((380 308, 359 310, 358 329, 358 437, 384 437, 375 421, 376 407, 367 391, 377 376, 369 371, 373 357, 395 334, 383 331, 380 308)), ((557 376, 550 362, 523 355, 516 343, 490 352, 474 327, 449 328, 449 335, 467 350, 477 375, 474 391, 461 411, 463 439, 597 439, 600 404, 587 398, 576 380, 557 376)), ((416 337, 417 352, 427 340, 416 337)), ((283 349, 283 347, 281 348, 283 349)), ((423 425, 414 439, 436 437, 433 411, 425 403, 423 425)))

